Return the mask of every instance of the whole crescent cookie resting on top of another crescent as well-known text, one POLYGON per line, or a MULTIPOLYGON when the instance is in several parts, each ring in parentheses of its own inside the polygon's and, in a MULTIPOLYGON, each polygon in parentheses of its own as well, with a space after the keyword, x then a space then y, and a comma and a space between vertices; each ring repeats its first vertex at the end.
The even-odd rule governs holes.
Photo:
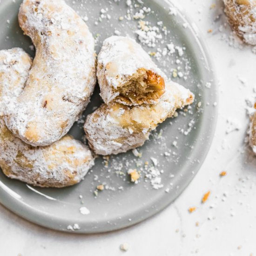
POLYGON ((24 0, 19 23, 36 55, 5 122, 22 141, 47 146, 67 134, 89 102, 96 82, 94 38, 63 0, 24 0))

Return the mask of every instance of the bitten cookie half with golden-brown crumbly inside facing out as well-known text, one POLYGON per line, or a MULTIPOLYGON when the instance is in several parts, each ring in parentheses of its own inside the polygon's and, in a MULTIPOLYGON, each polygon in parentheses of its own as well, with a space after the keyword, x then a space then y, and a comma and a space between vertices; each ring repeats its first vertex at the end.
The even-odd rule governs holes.
POLYGON ((165 91, 165 74, 133 39, 111 36, 98 55, 101 97, 125 105, 155 104, 165 91))

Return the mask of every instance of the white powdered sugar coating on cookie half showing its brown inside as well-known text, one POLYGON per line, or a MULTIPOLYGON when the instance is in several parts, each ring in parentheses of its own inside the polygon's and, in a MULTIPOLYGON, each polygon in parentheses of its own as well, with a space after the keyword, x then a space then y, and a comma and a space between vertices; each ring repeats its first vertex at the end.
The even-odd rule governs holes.
POLYGON ((135 40, 123 36, 111 36, 104 40, 97 67, 103 101, 108 104, 115 99, 119 95, 116 89, 122 87, 140 68, 151 70, 167 80, 166 75, 135 40), (111 68, 108 68, 109 64, 111 68))

